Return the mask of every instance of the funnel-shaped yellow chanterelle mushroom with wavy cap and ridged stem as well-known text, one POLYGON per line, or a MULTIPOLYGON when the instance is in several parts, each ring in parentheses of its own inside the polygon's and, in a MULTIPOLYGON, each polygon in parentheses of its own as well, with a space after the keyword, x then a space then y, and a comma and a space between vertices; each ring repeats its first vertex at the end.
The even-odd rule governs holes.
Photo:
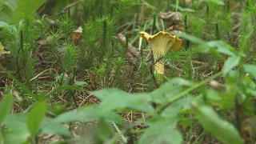
POLYGON ((176 36, 166 33, 158 32, 158 34, 150 35, 146 32, 139 32, 140 36, 149 42, 154 55, 154 71, 157 74, 164 74, 164 64, 160 60, 170 50, 178 50, 182 46, 182 40, 176 36))

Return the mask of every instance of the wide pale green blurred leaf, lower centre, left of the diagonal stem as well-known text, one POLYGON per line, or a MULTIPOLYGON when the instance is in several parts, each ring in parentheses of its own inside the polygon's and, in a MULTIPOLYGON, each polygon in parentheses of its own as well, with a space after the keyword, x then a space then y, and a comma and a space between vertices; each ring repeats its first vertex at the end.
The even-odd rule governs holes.
POLYGON ((115 88, 97 90, 90 92, 90 94, 102 99, 99 106, 106 112, 130 108, 154 115, 154 108, 150 105, 150 99, 146 94, 129 94, 115 88))

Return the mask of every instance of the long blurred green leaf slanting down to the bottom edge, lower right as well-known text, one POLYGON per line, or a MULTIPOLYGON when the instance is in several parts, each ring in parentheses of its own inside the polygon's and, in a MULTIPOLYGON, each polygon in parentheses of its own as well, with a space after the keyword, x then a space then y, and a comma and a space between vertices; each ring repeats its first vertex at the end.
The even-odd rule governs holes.
POLYGON ((214 134, 223 143, 242 144, 242 138, 238 130, 218 117, 218 114, 210 106, 196 106, 195 116, 204 129, 214 134))

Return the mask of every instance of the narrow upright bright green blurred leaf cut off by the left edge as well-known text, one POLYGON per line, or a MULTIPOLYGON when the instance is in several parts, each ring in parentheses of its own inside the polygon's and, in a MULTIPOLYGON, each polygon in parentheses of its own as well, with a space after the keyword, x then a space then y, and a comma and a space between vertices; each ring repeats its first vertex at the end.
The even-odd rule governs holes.
POLYGON ((5 98, 0 102, 0 126, 13 108, 13 99, 13 94, 6 94, 5 98))

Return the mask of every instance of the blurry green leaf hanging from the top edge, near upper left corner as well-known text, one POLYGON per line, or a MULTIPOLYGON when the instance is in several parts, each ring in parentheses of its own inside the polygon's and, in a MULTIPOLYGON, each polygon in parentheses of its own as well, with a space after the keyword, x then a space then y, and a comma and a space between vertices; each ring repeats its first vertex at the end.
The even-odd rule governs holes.
POLYGON ((15 10, 14 22, 18 22, 24 13, 33 15, 43 2, 45 2, 45 0, 19 0, 17 2, 18 8, 15 10))

